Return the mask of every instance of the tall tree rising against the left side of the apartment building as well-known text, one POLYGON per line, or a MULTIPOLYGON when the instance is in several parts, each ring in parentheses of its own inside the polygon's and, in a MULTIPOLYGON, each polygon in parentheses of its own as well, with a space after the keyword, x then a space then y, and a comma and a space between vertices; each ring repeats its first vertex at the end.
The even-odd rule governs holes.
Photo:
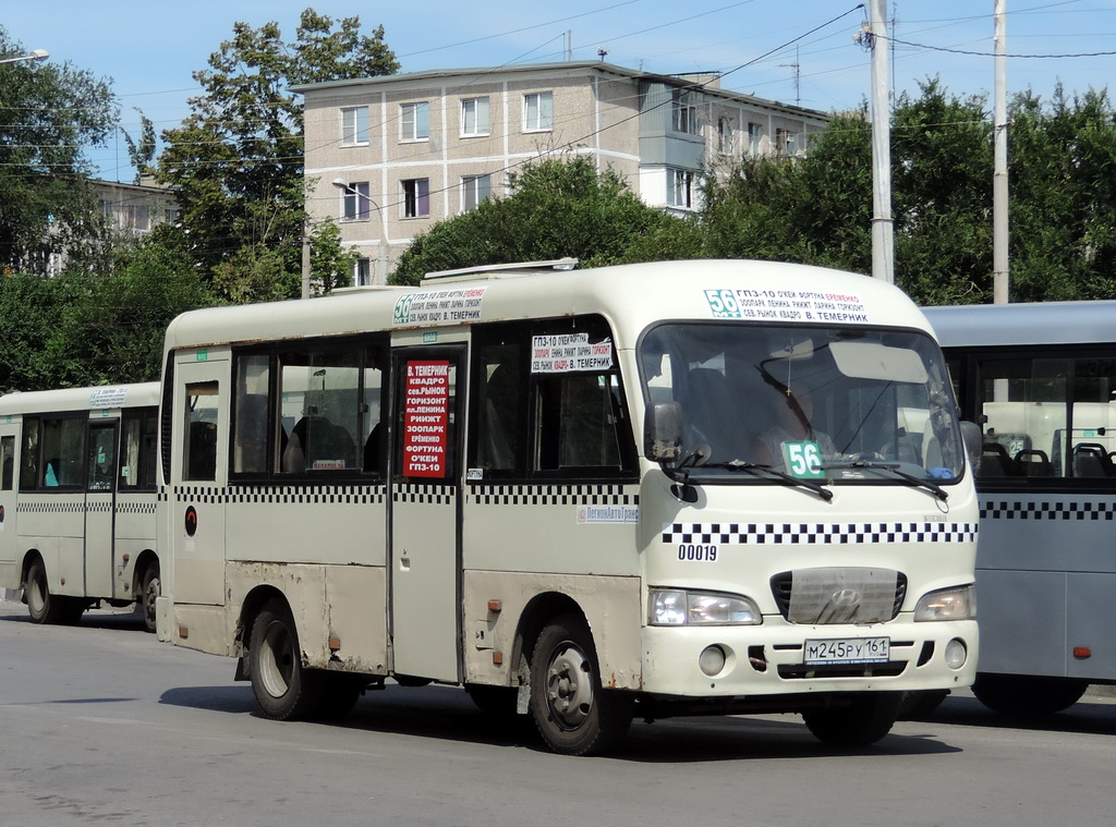
POLYGON ((233 26, 233 37, 194 73, 204 94, 163 133, 158 179, 179 193, 191 254, 238 301, 297 296, 305 224, 302 108, 288 87, 387 75, 398 62, 379 27, 338 28, 307 9, 292 42, 278 23, 233 26))

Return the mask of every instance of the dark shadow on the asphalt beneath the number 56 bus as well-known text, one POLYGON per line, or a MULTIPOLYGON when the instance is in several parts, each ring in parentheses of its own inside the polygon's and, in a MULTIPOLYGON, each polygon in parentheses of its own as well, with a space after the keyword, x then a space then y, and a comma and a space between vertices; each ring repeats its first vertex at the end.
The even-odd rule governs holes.
MULTIPOLYGON (((173 689, 163 693, 161 702, 262 718, 248 684, 173 689)), ((344 720, 315 723, 349 731, 547 751, 528 717, 485 714, 463 691, 450 686, 416 689, 388 684, 383 690, 366 692, 344 720)), ((830 756, 929 756, 958 751, 959 748, 939 740, 930 724, 917 734, 893 732, 869 747, 828 747, 809 733, 798 715, 787 714, 674 718, 654 723, 636 720, 626 741, 608 757, 646 763, 690 763, 830 756)))

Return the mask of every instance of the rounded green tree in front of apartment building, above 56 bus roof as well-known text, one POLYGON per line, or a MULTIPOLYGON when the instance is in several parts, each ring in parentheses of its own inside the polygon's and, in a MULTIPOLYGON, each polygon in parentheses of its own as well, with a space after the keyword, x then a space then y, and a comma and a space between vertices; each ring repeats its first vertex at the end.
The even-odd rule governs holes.
POLYGON ((400 257, 394 283, 430 271, 567 256, 594 267, 639 260, 637 242, 673 219, 644 204, 612 170, 585 155, 526 164, 508 175, 512 194, 482 201, 415 237, 400 257))

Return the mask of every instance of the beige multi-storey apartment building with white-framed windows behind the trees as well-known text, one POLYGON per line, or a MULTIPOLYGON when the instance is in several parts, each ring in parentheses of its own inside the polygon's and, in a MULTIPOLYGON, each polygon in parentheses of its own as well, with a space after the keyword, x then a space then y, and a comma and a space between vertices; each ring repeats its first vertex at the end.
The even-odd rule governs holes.
POLYGON ((307 211, 359 252, 354 283, 385 283, 411 239, 507 194, 525 162, 580 153, 651 206, 700 208, 700 175, 804 153, 824 113, 599 61, 421 71, 294 87, 306 110, 307 211))

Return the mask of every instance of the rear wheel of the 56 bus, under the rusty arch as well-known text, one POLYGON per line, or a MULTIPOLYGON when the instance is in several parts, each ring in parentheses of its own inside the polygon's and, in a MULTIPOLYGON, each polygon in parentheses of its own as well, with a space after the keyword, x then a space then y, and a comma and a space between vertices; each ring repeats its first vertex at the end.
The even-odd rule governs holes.
POLYGON ((249 671, 260 711, 276 721, 314 718, 320 711, 324 682, 302 666, 298 629, 283 600, 263 606, 250 641, 249 671))

